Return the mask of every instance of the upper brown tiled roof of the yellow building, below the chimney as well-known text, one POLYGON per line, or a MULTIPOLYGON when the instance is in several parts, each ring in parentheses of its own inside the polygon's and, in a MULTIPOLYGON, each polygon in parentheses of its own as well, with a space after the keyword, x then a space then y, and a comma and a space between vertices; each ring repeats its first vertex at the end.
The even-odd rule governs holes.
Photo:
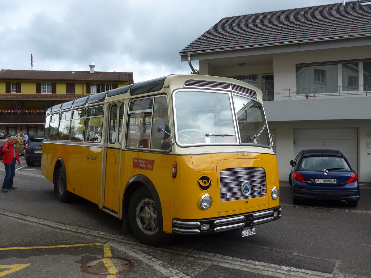
POLYGON ((61 80, 94 82, 127 82, 133 84, 132 72, 74 72, 57 70, 4 70, 0 71, 0 80, 61 80))

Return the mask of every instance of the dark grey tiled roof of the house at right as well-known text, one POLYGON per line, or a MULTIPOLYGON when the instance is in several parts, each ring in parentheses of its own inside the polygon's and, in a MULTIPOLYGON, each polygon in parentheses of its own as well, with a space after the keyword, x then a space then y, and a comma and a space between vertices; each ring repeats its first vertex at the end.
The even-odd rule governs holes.
POLYGON ((362 2, 225 17, 180 54, 371 36, 371 5, 362 2))

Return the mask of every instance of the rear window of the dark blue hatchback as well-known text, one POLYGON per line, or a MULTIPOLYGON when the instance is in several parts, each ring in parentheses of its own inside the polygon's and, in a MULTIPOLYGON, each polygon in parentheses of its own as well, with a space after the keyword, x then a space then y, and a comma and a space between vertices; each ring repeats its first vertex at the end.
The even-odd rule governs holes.
POLYGON ((313 156, 303 158, 299 166, 299 170, 303 171, 321 172, 324 169, 335 172, 350 171, 344 158, 333 156, 313 156))

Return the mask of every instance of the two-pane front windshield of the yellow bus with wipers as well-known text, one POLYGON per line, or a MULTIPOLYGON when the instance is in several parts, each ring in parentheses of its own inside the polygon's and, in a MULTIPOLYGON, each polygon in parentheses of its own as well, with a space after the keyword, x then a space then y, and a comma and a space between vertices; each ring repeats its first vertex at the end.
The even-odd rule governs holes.
POLYGON ((263 107, 256 100, 228 92, 181 90, 174 103, 179 145, 270 146, 263 107))

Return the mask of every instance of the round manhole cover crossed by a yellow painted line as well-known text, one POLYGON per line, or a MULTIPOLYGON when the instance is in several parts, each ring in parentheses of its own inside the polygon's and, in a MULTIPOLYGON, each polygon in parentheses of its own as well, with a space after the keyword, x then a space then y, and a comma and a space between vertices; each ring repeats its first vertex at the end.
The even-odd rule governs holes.
POLYGON ((83 271, 93 275, 114 275, 128 271, 133 263, 123 258, 93 259, 82 265, 83 271))

